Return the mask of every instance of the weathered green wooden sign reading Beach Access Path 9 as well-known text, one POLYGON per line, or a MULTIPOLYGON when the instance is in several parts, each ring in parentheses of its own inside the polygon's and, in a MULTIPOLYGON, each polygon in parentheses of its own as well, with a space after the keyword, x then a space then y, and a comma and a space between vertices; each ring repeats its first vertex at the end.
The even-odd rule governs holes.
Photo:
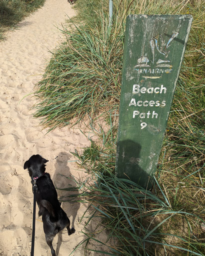
POLYGON ((190 15, 129 15, 126 19, 118 177, 151 187, 191 26, 190 15))

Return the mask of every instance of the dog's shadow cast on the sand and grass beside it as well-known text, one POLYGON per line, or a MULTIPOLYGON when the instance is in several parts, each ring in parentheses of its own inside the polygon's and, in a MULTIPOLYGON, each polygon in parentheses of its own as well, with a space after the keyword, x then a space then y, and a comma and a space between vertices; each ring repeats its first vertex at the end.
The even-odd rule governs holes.
MULTIPOLYGON (((76 183, 70 174, 69 167, 67 166, 69 158, 70 156, 66 152, 60 152, 58 154, 55 162, 55 172, 52 179, 57 190, 59 201, 61 202, 61 207, 70 219, 70 227, 74 227, 74 221, 80 207, 80 203, 75 201, 79 192, 76 188, 76 183)), ((62 233, 59 232, 55 251, 56 255, 58 255, 61 242, 62 233)))

